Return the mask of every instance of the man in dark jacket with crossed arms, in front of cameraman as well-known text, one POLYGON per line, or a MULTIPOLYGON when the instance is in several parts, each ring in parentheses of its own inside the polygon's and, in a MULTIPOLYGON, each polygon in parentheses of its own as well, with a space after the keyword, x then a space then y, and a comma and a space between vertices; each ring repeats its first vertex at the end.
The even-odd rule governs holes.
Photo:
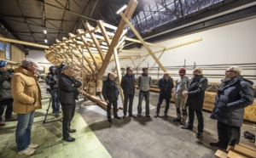
POLYGON ((82 83, 74 79, 73 68, 71 66, 65 66, 63 72, 59 75, 58 90, 59 101, 62 106, 63 120, 62 120, 62 134, 63 140, 67 142, 73 142, 76 139, 71 137, 69 133, 75 133, 75 129, 70 128, 70 122, 73 119, 76 101, 79 97, 78 88, 82 83))

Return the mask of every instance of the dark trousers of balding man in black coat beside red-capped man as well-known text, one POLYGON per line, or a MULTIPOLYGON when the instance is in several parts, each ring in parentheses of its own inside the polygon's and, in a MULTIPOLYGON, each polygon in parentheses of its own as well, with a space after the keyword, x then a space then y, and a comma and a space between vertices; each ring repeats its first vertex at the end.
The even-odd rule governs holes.
POLYGON ((191 127, 191 128, 193 127, 195 114, 196 114, 197 121, 198 121, 197 130, 198 130, 199 133, 203 133, 204 118, 203 118, 203 114, 202 114, 201 110, 193 110, 193 109, 189 108, 188 126, 191 127))

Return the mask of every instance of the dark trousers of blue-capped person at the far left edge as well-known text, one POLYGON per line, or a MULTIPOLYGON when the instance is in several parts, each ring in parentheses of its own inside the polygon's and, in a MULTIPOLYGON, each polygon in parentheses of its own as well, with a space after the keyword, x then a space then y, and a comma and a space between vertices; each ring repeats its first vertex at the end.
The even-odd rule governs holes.
POLYGON ((9 119, 12 116, 13 102, 14 102, 14 99, 5 99, 0 101, 0 121, 3 121, 2 116, 6 106, 7 108, 5 110, 5 119, 9 119))

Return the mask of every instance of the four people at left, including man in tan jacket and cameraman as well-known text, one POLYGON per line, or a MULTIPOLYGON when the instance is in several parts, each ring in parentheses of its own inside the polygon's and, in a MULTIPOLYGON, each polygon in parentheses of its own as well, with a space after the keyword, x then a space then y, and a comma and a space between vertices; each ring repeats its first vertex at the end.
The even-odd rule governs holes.
MULTIPOLYGON (((32 144, 31 131, 35 110, 42 109, 41 89, 38 83, 38 63, 34 59, 26 58, 21 61, 14 74, 8 70, 8 63, 0 60, 0 126, 6 123, 3 121, 3 111, 5 121, 17 120, 15 131, 15 141, 19 155, 32 155, 38 144, 32 144), (12 112, 17 114, 17 118, 12 116, 12 112)), ((48 81, 53 99, 53 113, 56 117, 62 107, 62 135, 67 142, 75 141, 69 133, 75 133, 71 128, 71 121, 75 112, 75 100, 78 99, 81 82, 73 77, 73 67, 64 66, 62 72, 55 76, 54 71, 50 71, 48 81), (54 73, 53 73, 54 72, 54 73)))

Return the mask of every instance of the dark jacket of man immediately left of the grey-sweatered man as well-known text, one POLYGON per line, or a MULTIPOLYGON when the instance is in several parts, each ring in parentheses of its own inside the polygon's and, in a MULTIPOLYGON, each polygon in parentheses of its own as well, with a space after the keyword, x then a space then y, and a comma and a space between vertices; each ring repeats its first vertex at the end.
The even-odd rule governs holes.
POLYGON ((124 91, 124 95, 134 94, 135 93, 135 78, 133 74, 125 74, 122 77, 121 87, 124 91))

